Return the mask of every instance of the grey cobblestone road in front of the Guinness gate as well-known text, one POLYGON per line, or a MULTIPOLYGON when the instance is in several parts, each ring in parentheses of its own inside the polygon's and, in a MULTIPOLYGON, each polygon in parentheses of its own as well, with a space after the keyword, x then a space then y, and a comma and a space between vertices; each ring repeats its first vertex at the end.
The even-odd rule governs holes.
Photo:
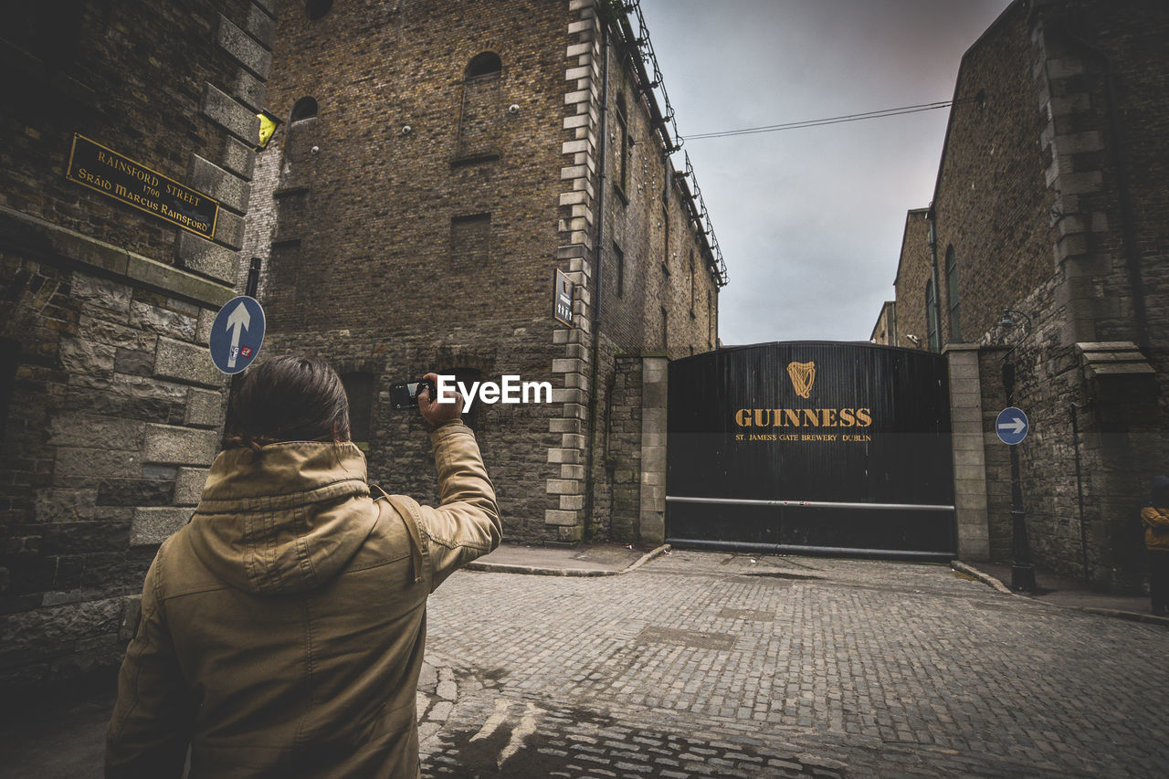
POLYGON ((945 566, 461 572, 429 619, 429 777, 1169 775, 1169 630, 945 566))

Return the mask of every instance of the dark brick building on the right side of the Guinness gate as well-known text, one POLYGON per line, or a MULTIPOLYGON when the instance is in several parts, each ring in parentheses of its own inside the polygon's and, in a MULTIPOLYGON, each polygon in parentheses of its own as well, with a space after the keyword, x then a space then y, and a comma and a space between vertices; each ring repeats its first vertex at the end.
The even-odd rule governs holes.
POLYGON ((895 287, 901 337, 950 357, 963 557, 1011 554, 994 420, 1014 347, 1036 564, 1142 585, 1137 509, 1169 470, 1167 39, 1155 0, 1019 0, 962 58, 895 287))

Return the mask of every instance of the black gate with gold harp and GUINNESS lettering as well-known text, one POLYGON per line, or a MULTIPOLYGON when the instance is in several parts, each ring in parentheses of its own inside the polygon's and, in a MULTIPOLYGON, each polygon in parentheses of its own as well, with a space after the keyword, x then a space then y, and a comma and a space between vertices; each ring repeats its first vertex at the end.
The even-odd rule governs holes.
POLYGON ((790 342, 679 359, 669 377, 667 542, 954 557, 943 357, 790 342))

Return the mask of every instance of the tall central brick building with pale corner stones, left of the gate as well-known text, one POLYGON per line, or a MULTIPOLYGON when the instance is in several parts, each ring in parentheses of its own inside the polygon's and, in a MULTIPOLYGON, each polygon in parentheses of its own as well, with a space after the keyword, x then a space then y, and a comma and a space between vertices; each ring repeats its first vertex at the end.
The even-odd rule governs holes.
POLYGON ((268 105, 286 125, 257 164, 244 247, 263 260, 265 351, 327 358, 371 478, 420 497, 429 444, 392 384, 552 382, 551 404, 469 415, 511 540, 660 538, 664 411, 643 416, 645 387, 656 402, 656 360, 717 344, 721 257, 625 5, 278 15, 268 105), (572 326, 553 318, 556 270, 572 326))

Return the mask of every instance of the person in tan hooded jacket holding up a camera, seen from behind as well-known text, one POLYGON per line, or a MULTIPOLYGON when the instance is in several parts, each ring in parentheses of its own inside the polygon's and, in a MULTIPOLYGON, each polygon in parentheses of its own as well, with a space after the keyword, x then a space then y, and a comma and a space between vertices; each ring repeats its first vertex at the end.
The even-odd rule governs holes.
MULTIPOLYGON (((428 378, 434 379, 434 374, 428 378)), ((441 504, 385 496, 314 358, 253 367, 191 524, 158 551, 106 777, 417 777, 427 597, 499 544, 461 400, 420 395, 441 504)))

